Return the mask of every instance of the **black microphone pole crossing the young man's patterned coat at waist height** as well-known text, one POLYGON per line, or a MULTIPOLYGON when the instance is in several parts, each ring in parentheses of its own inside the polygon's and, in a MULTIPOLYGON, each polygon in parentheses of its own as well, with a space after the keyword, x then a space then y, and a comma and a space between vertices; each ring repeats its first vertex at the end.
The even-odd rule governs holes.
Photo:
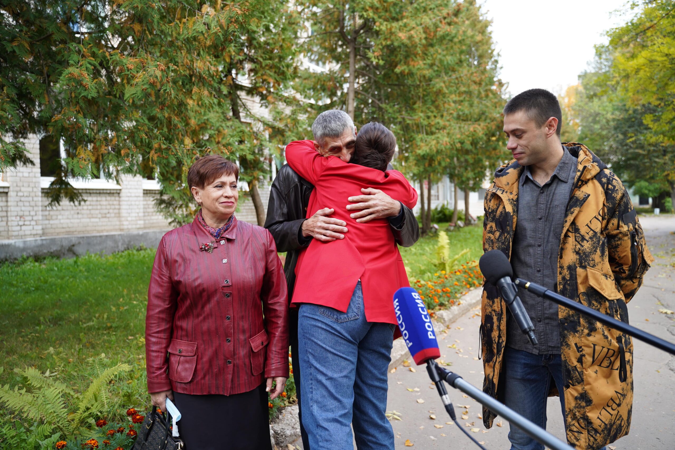
POLYGON ((646 342, 649 345, 653 345, 654 347, 657 347, 663 351, 667 351, 671 355, 675 355, 675 344, 668 342, 664 339, 661 339, 660 337, 656 337, 655 335, 652 335, 650 333, 647 333, 647 331, 642 331, 639 328, 635 328, 632 325, 628 325, 627 323, 622 322, 621 320, 616 320, 615 318, 607 316, 606 314, 603 314, 599 311, 589 308, 588 306, 585 306, 578 302, 574 302, 574 300, 570 300, 566 297, 563 297, 560 294, 551 291, 547 287, 543 287, 535 283, 530 283, 529 281, 526 281, 521 278, 516 279, 516 286, 523 287, 524 289, 532 293, 535 293, 539 297, 552 300, 553 302, 556 302, 557 304, 564 306, 565 308, 569 308, 570 310, 576 311, 580 314, 584 314, 585 316, 589 316, 597 320, 598 322, 607 325, 607 327, 612 327, 619 331, 623 331, 627 335, 640 339, 641 341, 646 342))

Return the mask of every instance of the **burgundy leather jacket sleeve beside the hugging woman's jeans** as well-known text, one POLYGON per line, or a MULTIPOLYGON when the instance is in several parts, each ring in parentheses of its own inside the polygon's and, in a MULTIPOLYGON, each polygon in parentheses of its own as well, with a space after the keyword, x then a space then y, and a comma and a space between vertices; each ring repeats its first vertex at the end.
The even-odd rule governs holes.
POLYGON ((288 378, 288 303, 286 296, 286 277, 273 237, 267 233, 267 252, 265 254, 265 277, 261 289, 265 329, 269 336, 267 345, 267 363, 265 378, 284 376, 288 378))

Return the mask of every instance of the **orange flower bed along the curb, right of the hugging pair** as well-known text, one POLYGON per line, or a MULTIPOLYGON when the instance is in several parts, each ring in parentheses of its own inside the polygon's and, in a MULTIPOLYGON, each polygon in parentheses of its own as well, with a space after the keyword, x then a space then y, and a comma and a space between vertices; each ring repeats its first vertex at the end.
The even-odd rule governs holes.
POLYGON ((427 309, 433 314, 433 310, 454 305, 469 289, 479 287, 481 283, 483 275, 477 262, 467 261, 456 271, 438 271, 433 274, 433 279, 415 280, 412 287, 417 289, 427 309))

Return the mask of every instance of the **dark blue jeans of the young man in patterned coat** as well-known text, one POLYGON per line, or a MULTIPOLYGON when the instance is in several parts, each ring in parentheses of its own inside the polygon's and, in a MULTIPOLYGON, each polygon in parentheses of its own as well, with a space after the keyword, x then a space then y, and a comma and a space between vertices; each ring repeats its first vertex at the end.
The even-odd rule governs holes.
MULTIPOLYGON (((527 351, 504 349, 504 403, 524 418, 546 428, 546 402, 551 376, 560 392, 562 416, 565 417, 564 383, 560 355, 535 355, 527 351)), ((544 450, 544 446, 520 428, 510 425, 511 450, 544 450)), ((599 450, 605 450, 602 447, 599 450)))

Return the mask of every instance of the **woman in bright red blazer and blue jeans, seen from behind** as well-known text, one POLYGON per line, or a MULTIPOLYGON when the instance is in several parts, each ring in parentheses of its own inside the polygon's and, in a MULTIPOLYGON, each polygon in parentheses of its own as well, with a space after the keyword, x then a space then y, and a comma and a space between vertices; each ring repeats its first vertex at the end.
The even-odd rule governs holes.
MULTIPOLYGON (((332 132, 353 128, 344 111, 325 111, 312 125, 317 141, 333 137, 321 126, 331 121, 342 121, 332 132)), ((315 186, 307 217, 330 206, 349 230, 332 242, 312 240, 296 266, 302 425, 312 450, 352 449, 354 439, 359 449, 394 449, 385 415, 387 366, 394 292, 409 285, 408 277, 388 221, 358 223, 340 205, 352 192, 376 188, 415 206, 417 192, 402 173, 385 171, 395 149, 394 134, 375 122, 356 136, 351 164, 323 157, 311 140, 286 146, 290 167, 315 186)))

